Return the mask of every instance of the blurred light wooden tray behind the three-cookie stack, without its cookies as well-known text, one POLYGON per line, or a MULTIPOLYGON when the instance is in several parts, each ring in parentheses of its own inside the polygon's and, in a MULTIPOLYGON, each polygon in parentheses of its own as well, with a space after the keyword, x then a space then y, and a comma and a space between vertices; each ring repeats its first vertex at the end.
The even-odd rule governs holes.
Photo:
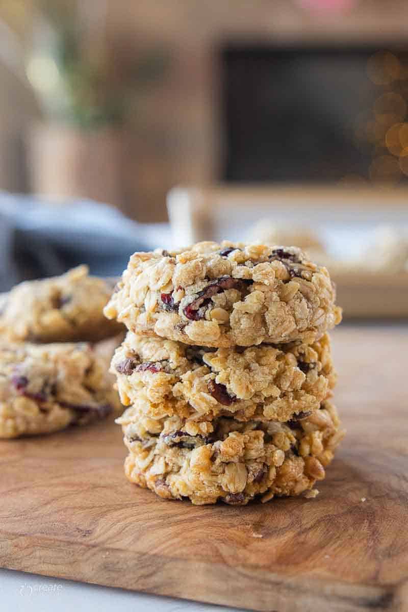
MULTIPOLYGON (((406 187, 346 188, 311 185, 175 187, 167 205, 174 246, 200 240, 243 239, 260 219, 288 228, 336 224, 408 227, 406 187)), ((320 227, 320 230, 319 230, 320 227)), ((347 248, 347 244, 344 246, 347 248)), ((408 318, 408 274, 336 272, 338 304, 347 318, 408 318)))

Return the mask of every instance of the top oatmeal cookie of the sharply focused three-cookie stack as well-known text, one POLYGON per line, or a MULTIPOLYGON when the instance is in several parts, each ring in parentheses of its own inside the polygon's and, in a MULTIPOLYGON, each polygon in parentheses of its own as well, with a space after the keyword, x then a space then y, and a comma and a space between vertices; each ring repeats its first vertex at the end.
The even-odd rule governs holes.
POLYGON ((132 255, 105 315, 138 334, 228 347, 312 343, 341 309, 327 269, 299 248, 199 242, 132 255))

